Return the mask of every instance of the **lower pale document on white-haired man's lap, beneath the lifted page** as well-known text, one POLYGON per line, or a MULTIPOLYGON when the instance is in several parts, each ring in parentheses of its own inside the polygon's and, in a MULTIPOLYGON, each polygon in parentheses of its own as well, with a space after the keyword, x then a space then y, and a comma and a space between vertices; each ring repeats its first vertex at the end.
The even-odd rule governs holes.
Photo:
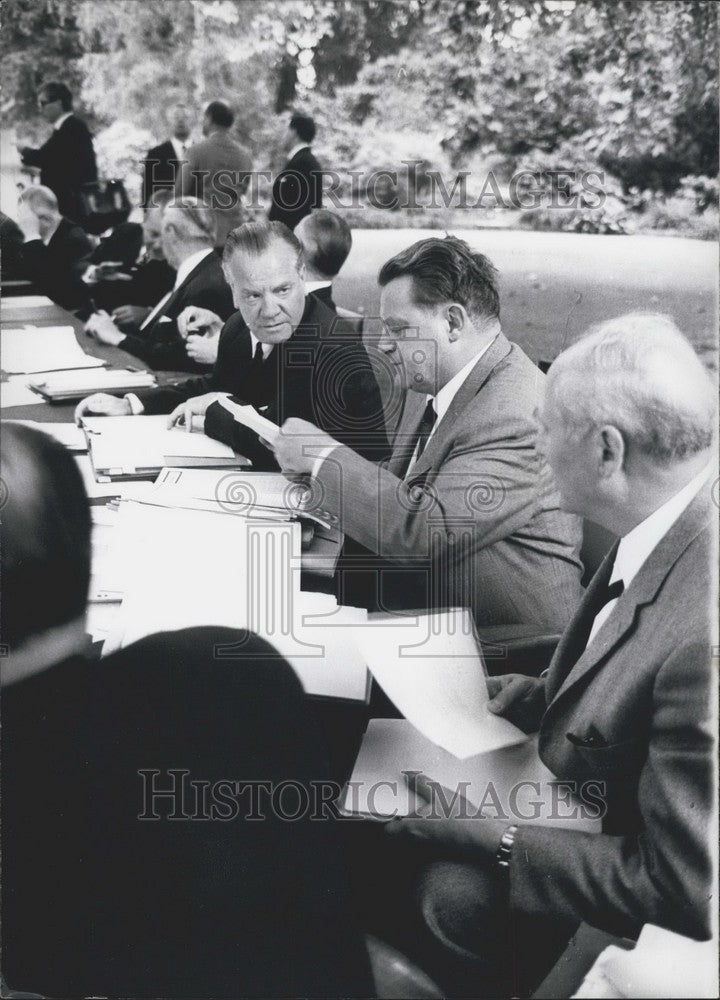
POLYGON ((437 793, 435 815, 485 815, 508 824, 532 823, 600 833, 602 802, 581 800, 540 760, 537 736, 458 760, 427 740, 407 719, 371 719, 341 803, 345 815, 407 816, 418 802, 406 773, 425 775, 450 793, 437 793), (469 803, 463 807, 455 793, 469 803), (441 797, 442 795, 442 797, 441 797))

